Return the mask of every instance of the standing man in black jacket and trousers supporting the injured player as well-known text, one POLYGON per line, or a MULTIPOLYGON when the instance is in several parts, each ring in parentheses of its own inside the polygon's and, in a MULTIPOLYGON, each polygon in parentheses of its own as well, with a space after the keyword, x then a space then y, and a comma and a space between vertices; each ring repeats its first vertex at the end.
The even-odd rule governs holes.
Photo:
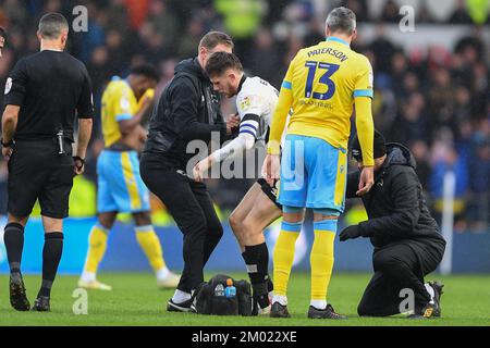
POLYGON ((213 132, 224 140, 238 125, 237 117, 224 123, 219 95, 204 71, 212 53, 232 49, 233 41, 226 34, 206 34, 198 57, 175 67, 175 76, 150 121, 140 162, 142 178, 167 206, 184 235, 184 270, 168 311, 193 311, 192 293, 203 283, 203 268, 223 234, 206 185, 186 174, 187 161, 195 156, 187 153, 186 147, 192 140, 209 141, 213 132))

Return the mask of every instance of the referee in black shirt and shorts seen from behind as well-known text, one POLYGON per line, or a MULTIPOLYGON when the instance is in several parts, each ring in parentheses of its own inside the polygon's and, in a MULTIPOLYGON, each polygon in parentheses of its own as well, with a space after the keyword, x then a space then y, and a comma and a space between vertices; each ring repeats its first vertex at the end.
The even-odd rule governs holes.
POLYGON ((45 247, 42 284, 34 311, 50 310, 50 294, 63 249, 63 219, 69 214, 73 177, 84 172, 94 107, 85 65, 64 53, 66 20, 49 13, 39 22, 40 52, 17 62, 5 85, 2 154, 9 166, 9 223, 4 244, 10 264, 10 301, 30 309, 22 274, 24 227, 39 199, 45 247), (73 124, 78 117, 75 157, 73 124))

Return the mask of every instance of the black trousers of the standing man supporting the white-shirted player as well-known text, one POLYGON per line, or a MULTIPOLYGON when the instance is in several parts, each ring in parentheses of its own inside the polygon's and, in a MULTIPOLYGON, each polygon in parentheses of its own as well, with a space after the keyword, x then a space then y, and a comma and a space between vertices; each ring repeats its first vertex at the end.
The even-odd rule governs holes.
POLYGON ((189 179, 175 161, 159 153, 143 154, 140 174, 184 235, 184 270, 177 289, 191 293, 204 282, 204 266, 223 235, 208 189, 189 179))

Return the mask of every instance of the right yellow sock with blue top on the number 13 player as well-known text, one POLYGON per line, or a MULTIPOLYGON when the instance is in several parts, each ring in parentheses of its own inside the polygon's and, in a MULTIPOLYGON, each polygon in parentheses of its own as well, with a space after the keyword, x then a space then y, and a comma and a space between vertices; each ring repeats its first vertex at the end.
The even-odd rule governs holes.
MULTIPOLYGON (((333 269, 336 220, 316 222, 311 248, 311 301, 326 301, 333 269)), ((327 304, 327 303, 324 303, 327 304)))

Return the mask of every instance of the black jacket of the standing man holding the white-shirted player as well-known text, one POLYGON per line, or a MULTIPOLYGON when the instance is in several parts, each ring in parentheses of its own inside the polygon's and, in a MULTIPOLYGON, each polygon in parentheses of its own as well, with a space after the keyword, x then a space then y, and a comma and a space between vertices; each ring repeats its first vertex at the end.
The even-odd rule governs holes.
POLYGON ((211 133, 226 136, 226 124, 220 110, 220 96, 195 59, 175 67, 175 75, 154 109, 144 152, 162 153, 181 165, 195 156, 186 153, 192 140, 210 141, 211 133))

